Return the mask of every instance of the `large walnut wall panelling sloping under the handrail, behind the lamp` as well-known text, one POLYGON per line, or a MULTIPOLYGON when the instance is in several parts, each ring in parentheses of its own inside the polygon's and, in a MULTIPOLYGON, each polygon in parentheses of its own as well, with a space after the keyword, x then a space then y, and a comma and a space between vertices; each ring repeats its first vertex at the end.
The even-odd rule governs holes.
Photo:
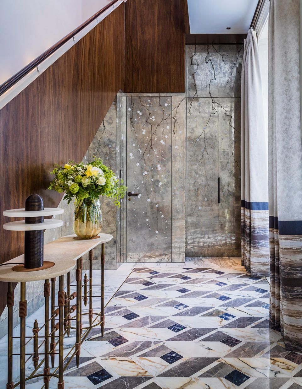
POLYGON ((23 234, 3 230, 2 211, 32 193, 45 207, 58 205, 61 195, 46 189, 53 163, 83 158, 123 89, 124 15, 123 3, 0 110, 1 263, 24 252, 23 234))

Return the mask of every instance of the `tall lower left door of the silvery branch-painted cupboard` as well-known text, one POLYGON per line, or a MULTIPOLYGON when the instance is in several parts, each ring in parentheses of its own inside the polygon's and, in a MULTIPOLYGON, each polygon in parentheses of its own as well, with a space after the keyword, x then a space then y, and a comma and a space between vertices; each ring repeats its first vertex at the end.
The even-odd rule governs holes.
POLYGON ((187 99, 187 247, 218 247, 219 104, 187 99))

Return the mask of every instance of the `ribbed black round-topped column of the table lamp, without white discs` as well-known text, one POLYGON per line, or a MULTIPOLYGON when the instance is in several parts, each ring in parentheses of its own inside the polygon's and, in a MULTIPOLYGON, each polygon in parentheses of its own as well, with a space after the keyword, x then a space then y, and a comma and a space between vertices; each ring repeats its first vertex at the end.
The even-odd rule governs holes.
MULTIPOLYGON (((25 200, 25 211, 42 211, 43 199, 39 195, 30 195, 25 200)), ((44 216, 25 217, 25 224, 44 223, 44 216)), ((35 269, 43 266, 44 231, 25 231, 24 267, 35 269)))

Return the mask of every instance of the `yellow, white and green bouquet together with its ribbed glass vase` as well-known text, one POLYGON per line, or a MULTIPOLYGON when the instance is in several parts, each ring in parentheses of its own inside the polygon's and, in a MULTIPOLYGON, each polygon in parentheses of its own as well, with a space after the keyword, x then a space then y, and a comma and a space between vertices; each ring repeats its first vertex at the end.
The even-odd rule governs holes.
POLYGON ((120 207, 119 200, 125 196, 127 187, 122 181, 119 182, 100 158, 94 158, 89 165, 69 161, 64 166, 54 166, 51 174, 54 174, 55 178, 48 189, 65 192, 63 200, 68 200, 68 204, 75 199, 74 232, 82 239, 97 236, 102 228, 99 196, 114 199, 115 204, 120 207))

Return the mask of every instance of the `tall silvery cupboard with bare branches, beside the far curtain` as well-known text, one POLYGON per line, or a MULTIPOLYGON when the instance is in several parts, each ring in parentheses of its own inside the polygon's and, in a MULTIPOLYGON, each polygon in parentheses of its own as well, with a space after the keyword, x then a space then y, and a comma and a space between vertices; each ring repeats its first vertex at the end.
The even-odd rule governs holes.
POLYGON ((242 58, 242 45, 186 46, 187 256, 240 255, 242 58))

